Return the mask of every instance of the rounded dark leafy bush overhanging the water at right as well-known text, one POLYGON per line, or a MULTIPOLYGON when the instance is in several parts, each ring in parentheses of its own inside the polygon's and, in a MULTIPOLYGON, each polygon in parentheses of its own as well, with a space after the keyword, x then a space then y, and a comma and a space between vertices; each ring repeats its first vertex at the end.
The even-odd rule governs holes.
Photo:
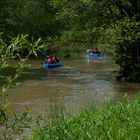
POLYGON ((140 23, 126 18, 116 22, 113 28, 107 29, 105 33, 107 41, 116 45, 114 58, 120 66, 118 78, 140 81, 140 23))

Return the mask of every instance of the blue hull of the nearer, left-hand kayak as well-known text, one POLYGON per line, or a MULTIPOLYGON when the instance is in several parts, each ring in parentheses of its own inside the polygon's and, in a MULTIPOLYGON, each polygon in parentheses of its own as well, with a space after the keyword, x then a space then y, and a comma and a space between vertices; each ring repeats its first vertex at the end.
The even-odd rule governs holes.
POLYGON ((48 69, 52 69, 52 68, 57 68, 57 67, 61 67, 63 66, 62 63, 56 62, 56 63, 48 63, 47 61, 43 62, 43 67, 48 70, 48 69))

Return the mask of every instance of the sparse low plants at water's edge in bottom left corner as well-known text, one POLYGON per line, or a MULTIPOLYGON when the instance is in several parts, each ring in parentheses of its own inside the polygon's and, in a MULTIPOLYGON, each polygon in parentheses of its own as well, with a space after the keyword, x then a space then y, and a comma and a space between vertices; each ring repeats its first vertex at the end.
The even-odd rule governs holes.
POLYGON ((2 124, 1 139, 9 140, 21 135, 25 129, 31 129, 31 123, 33 123, 33 119, 30 117, 28 109, 23 114, 12 114, 2 124))

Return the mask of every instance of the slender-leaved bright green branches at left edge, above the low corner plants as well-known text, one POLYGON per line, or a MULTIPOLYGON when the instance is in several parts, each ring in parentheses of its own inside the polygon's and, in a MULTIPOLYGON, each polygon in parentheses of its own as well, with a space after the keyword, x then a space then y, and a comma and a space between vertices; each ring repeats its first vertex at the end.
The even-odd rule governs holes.
POLYGON ((16 80, 28 67, 27 60, 30 55, 37 56, 36 52, 44 47, 41 38, 29 42, 27 37, 28 35, 18 35, 9 42, 0 39, 0 123, 8 119, 7 90, 16 85, 16 80))

